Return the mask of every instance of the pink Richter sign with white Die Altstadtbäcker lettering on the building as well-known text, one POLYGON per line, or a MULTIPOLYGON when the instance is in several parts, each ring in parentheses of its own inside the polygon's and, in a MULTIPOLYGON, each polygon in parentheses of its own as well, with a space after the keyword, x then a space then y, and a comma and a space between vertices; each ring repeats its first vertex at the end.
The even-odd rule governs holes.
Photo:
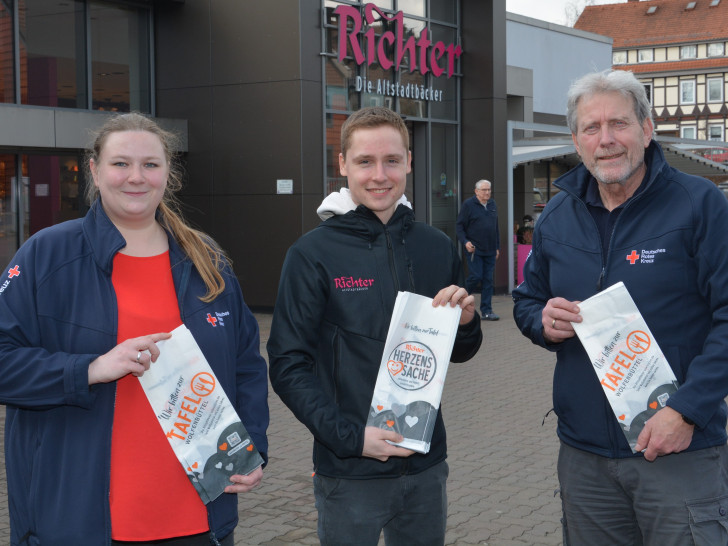
MULTIPOLYGON (((427 37, 428 33, 426 28, 420 32, 419 37, 410 36, 405 40, 404 13, 401 11, 398 11, 393 17, 387 17, 374 4, 366 4, 364 6, 364 21, 362 21, 359 9, 353 6, 340 5, 334 10, 334 13, 339 16, 339 61, 344 60, 348 47, 351 47, 354 60, 358 65, 366 62, 367 66, 370 66, 378 62, 385 70, 389 70, 390 68, 399 70, 402 59, 407 55, 409 57, 410 72, 418 70, 423 75, 432 72, 433 76, 440 77, 447 71, 447 77, 450 78, 455 72, 455 61, 460 58, 463 52, 462 47, 459 45, 445 45, 443 42, 432 43, 427 37), (374 12, 382 20, 394 22, 395 31, 387 30, 378 37, 374 33, 374 27, 370 27, 364 31, 365 56, 362 47, 359 45, 358 36, 364 21, 366 21, 367 25, 371 25, 377 20, 374 12), (394 49, 392 58, 387 56, 388 49, 394 49)), ((369 91, 371 87, 367 89, 366 83, 361 80, 357 81, 357 90, 369 91)), ((412 89, 410 93, 405 95, 404 90, 395 90, 396 86, 391 84, 391 82, 390 85, 392 85, 392 89, 384 91, 379 87, 377 93, 410 96, 411 98, 425 100, 442 100, 441 92, 436 94, 435 92, 430 92, 429 89, 422 88, 417 91, 412 89), (415 97, 416 94, 420 96, 415 97)))

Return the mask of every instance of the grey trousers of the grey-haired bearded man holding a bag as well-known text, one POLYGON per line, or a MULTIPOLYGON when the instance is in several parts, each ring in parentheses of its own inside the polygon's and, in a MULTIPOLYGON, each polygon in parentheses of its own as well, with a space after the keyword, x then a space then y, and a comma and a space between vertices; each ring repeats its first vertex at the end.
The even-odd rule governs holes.
POLYGON ((610 459, 562 442, 568 546, 728 545, 728 447, 610 459))

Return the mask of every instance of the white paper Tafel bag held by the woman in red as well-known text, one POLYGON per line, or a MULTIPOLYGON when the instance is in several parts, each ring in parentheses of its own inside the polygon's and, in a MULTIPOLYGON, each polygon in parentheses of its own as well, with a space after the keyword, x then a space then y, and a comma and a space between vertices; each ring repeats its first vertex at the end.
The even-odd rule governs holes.
POLYGON ((263 459, 187 327, 179 326, 157 346, 159 358, 139 382, 207 504, 230 485, 230 476, 249 474, 263 459))

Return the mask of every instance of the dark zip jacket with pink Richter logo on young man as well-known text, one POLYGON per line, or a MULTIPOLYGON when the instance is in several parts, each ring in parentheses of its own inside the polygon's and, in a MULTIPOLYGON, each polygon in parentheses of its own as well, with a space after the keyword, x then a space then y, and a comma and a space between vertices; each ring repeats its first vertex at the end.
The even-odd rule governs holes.
MULTIPOLYGON (((400 205, 384 225, 372 211, 334 216, 288 251, 268 340, 275 392, 314 435, 314 469, 350 479, 417 474, 445 460, 442 412, 430 451, 386 462, 362 457, 364 428, 398 291, 434 297, 462 286, 460 258, 442 231, 400 205)), ((458 328, 453 362, 470 359, 478 314, 458 328)))

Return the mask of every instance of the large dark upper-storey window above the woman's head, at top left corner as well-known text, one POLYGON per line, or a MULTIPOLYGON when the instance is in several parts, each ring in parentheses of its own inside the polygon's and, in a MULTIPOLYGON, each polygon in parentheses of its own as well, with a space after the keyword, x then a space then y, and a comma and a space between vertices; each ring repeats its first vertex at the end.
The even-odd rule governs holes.
POLYGON ((103 0, 15 3, 16 20, 5 7, 8 2, 0 7, 2 102, 152 111, 151 8, 103 0), (12 33, 15 24, 18 36, 12 33), (20 62, 15 71, 20 97, 9 94, 17 84, 10 56, 14 47, 20 62))

